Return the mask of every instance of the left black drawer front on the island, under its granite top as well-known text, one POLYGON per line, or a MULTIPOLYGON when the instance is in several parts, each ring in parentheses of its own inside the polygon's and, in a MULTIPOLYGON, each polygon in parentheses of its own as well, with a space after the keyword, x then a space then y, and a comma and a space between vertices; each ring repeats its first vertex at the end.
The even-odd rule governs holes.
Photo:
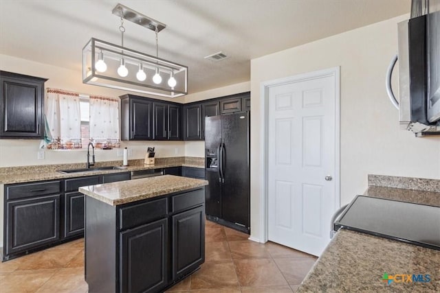
POLYGON ((121 230, 152 222, 168 214, 168 199, 161 198, 119 210, 119 228, 121 230))

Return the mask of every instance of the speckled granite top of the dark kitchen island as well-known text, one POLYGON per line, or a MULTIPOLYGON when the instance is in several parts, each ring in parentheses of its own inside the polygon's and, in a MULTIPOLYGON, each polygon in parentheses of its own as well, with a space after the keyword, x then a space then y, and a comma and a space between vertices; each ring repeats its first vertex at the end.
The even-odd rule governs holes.
POLYGON ((208 181, 174 175, 80 187, 87 196, 116 206, 208 185, 208 181))

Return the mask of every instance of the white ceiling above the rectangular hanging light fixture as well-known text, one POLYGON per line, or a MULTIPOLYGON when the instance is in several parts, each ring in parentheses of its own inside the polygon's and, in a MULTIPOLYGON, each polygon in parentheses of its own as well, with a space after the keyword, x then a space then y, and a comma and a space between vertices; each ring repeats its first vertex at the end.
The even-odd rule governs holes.
MULTIPOLYGON (((250 80, 253 58, 410 11, 410 0, 0 0, 0 54, 80 71, 91 37, 120 44, 117 3, 167 25, 159 57, 188 66, 189 93, 250 80), (203 59, 217 51, 230 58, 203 59)), ((125 47, 155 55, 153 31, 124 26, 125 47)))

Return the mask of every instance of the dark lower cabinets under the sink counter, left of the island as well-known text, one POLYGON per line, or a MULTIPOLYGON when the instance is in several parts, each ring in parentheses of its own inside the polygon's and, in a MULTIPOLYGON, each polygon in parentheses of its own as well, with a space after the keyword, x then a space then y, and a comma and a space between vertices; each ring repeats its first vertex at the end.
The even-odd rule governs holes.
POLYGON ((130 178, 121 172, 5 185, 3 260, 82 237, 85 196, 78 187, 130 178))

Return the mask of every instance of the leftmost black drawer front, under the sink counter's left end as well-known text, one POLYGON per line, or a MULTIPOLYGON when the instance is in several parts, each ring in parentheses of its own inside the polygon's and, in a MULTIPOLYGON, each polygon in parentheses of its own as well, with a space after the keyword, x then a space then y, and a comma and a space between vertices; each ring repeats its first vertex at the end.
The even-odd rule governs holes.
POLYGON ((61 184, 59 180, 27 183, 19 185, 5 185, 6 200, 30 198, 47 194, 59 194, 61 184))

